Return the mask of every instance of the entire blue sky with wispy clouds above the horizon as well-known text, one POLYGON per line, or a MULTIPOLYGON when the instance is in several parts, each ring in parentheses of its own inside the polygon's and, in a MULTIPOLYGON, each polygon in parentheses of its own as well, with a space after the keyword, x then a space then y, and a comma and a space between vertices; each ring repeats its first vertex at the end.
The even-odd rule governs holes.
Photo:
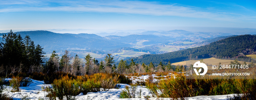
POLYGON ((255 0, 0 0, 0 32, 254 29, 255 5, 255 0))

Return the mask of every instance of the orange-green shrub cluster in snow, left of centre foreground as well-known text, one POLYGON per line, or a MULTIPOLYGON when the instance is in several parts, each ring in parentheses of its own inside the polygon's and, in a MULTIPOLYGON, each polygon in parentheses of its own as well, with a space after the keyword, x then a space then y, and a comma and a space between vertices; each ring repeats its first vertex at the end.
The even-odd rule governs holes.
MULTIPOLYGON (((120 75, 96 73, 94 75, 84 76, 63 76, 61 79, 55 79, 52 87, 46 87, 50 100, 75 100, 79 93, 87 94, 88 92, 108 91, 112 88, 118 88, 120 75)), ((126 77, 125 77, 126 78, 126 77)), ((119 86, 120 87, 120 86, 119 86)))

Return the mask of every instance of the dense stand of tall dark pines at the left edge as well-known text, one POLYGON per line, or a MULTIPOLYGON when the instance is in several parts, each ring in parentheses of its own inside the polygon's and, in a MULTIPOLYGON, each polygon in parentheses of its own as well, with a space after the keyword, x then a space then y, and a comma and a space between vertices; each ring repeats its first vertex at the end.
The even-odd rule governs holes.
POLYGON ((44 63, 43 48, 30 36, 17 35, 12 30, 2 36, 0 43, 0 73, 8 75, 16 72, 40 72, 44 63))

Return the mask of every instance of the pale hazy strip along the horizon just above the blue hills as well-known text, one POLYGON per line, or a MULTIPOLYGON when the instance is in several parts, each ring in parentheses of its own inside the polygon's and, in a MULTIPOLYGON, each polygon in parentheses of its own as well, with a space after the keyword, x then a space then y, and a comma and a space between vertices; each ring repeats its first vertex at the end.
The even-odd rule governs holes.
MULTIPOLYGON (((188 32, 212 32, 212 33, 231 33, 234 35, 243 35, 243 34, 256 34, 256 28, 225 28, 225 27, 186 27, 186 28, 169 28, 168 29, 158 29, 158 30, 147 30, 147 29, 136 29, 136 30, 95 30, 95 29, 26 29, 26 30, 17 30, 12 29, 13 32, 20 31, 50 31, 54 33, 71 33, 71 34, 79 34, 79 33, 88 33, 88 34, 96 34, 99 36, 108 36, 108 35, 118 35, 118 36, 127 36, 132 34, 139 34, 141 32, 146 31, 172 31, 172 30, 184 30, 188 32), (103 33, 103 35, 102 35, 103 33), (125 34, 123 34, 125 33, 125 34)), ((10 30, 0 30, 0 33, 8 33, 10 30)))

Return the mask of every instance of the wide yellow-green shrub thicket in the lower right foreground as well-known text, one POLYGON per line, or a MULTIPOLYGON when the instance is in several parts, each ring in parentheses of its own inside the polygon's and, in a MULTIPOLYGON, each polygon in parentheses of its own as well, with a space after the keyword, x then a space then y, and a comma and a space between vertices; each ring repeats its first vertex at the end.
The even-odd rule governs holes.
POLYGON ((243 97, 256 99, 256 79, 186 79, 184 75, 161 80, 158 84, 146 82, 153 97, 174 100, 199 95, 227 95, 243 93, 243 97))

